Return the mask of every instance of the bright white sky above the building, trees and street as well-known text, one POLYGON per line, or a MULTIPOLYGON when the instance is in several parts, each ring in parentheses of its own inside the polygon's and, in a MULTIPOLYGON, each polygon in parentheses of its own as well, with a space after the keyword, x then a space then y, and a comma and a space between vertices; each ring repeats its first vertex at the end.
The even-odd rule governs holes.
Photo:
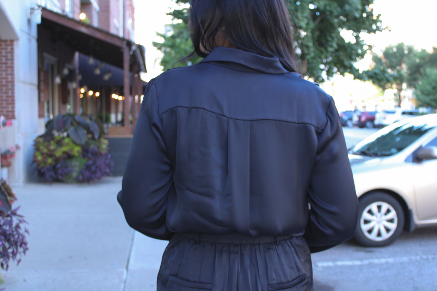
MULTIPOLYGON (((146 81, 162 72, 157 51, 152 42, 162 42, 156 32, 163 33, 171 17, 166 13, 178 5, 171 0, 135 0, 135 42, 146 47, 148 73, 142 76, 146 81)), ((381 51, 387 45, 404 42, 416 49, 437 47, 437 24, 434 18, 437 0, 375 0, 375 14, 381 14, 383 26, 391 31, 366 35, 364 40, 375 45, 374 51, 381 51)))

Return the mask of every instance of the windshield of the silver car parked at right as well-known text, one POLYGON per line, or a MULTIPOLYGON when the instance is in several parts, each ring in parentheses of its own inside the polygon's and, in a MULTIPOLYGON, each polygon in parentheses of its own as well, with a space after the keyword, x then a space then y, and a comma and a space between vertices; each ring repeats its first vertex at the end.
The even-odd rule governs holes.
POLYGON ((350 153, 363 156, 392 156, 436 127, 436 119, 428 123, 424 123, 421 118, 416 121, 395 123, 370 135, 354 146, 350 153))

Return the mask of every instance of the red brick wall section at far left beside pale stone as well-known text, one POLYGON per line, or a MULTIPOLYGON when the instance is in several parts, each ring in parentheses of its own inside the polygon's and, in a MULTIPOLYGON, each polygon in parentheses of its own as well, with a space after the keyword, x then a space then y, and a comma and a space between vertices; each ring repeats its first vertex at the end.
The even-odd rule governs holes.
POLYGON ((15 119, 14 41, 0 41, 0 115, 15 119))

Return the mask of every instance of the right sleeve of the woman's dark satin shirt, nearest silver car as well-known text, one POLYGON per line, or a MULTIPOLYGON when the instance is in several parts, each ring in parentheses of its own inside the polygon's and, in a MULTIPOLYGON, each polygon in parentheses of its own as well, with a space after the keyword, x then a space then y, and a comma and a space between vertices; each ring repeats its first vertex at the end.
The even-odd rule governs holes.
POLYGON ((305 239, 312 253, 350 239, 357 224, 358 199, 346 142, 333 101, 326 111, 309 186, 310 217, 305 239))

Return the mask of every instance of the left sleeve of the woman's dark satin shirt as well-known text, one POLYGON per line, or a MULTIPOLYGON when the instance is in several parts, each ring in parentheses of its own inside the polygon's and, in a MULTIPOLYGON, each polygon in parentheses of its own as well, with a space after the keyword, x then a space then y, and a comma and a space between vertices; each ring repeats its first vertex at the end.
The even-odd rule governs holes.
POLYGON ((152 80, 141 104, 117 200, 133 229, 146 236, 168 240, 173 235, 166 225, 167 195, 174 192, 173 168, 161 131, 156 87, 152 80))

